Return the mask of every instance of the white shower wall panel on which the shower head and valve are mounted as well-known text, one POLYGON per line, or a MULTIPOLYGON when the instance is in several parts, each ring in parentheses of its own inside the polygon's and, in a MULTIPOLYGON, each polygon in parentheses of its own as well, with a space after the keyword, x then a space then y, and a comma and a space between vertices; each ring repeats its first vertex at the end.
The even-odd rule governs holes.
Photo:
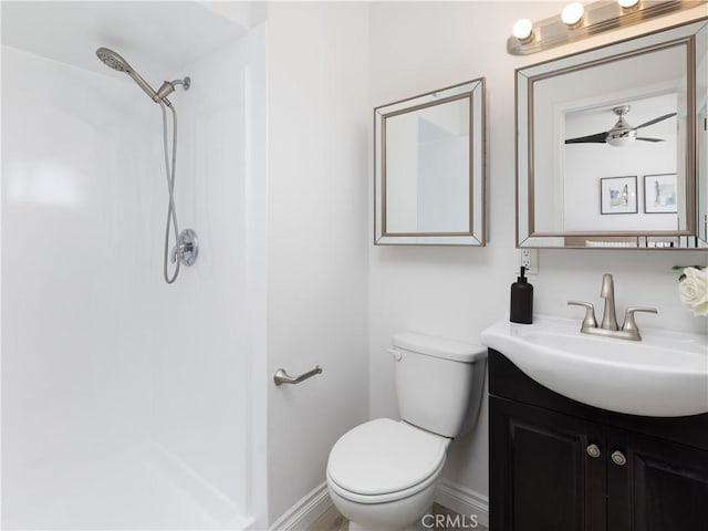
MULTIPOLYGON (((145 287, 160 367, 155 399, 163 413, 154 420, 154 437, 228 499, 235 513, 247 514, 254 501, 250 478, 264 473, 252 470, 251 419, 267 415, 267 405, 253 395, 261 382, 251 379, 258 329, 249 292, 266 274, 264 256, 254 256, 249 244, 266 237, 264 226, 253 225, 254 211, 266 209, 264 188, 259 194, 252 185, 266 178, 254 147, 266 140, 264 132, 254 131, 266 119, 264 28, 220 44, 177 73, 190 75, 192 84, 170 96, 179 127, 176 208, 179 229, 197 231, 200 251, 171 287, 157 274, 149 274, 145 287)), ((155 250, 162 251, 166 209, 162 135, 154 134, 152 145, 149 227, 160 230, 152 230, 152 263, 145 270, 157 273, 162 253, 155 250)), ((226 524, 228 512, 223 518, 226 524)))

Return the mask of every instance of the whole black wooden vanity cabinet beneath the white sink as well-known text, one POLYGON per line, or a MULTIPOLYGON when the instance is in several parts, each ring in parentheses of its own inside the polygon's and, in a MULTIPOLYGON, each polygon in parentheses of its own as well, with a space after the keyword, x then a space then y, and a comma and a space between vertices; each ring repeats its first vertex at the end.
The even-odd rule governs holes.
POLYGON ((708 531, 708 415, 605 412, 490 350, 491 531, 708 531))

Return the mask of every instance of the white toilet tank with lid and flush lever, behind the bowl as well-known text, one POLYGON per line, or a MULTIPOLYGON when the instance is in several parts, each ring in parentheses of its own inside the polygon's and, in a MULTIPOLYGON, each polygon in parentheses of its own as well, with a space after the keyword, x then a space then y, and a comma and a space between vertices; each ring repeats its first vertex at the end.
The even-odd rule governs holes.
POLYGON ((403 420, 445 437, 471 429, 485 386, 485 346, 402 332, 389 352, 403 420))

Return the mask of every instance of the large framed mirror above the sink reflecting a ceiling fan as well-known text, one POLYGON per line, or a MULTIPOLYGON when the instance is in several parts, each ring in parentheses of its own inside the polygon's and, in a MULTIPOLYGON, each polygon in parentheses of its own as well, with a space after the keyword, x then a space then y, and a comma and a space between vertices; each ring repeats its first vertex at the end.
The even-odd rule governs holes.
POLYGON ((708 249, 708 19, 518 69, 517 246, 708 249))

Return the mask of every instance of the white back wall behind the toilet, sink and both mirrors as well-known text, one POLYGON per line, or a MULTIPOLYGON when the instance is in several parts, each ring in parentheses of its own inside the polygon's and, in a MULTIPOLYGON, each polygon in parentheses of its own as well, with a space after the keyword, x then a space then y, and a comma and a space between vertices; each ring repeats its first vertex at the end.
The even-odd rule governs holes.
MULTIPOLYGON (((396 416, 393 362, 385 352, 399 330, 415 330, 478 342, 482 329, 504 319, 509 285, 516 280, 514 249, 514 69, 571 53, 634 32, 615 31, 581 44, 531 58, 506 52, 520 17, 540 20, 558 13, 558 2, 382 2, 371 7, 371 105, 486 76, 488 90, 489 243, 486 248, 369 248, 371 416, 396 416)), ((706 14, 705 7, 699 10, 706 14)), ((695 15, 694 11, 694 15, 695 15)), ((664 18, 670 24, 680 17, 664 18)), ((371 190, 369 190, 371 195, 371 190)), ((371 202, 371 201, 369 201, 371 202)), ((371 207, 369 207, 371 208, 371 207)), ((658 316, 641 325, 708 332, 678 302, 676 263, 706 263, 705 253, 637 251, 541 251, 532 277, 535 312, 572 316, 569 299, 597 301, 601 277, 615 275, 617 306, 656 305, 658 316)), ((487 404, 476 430, 456 440, 446 478, 488 493, 487 404)))

